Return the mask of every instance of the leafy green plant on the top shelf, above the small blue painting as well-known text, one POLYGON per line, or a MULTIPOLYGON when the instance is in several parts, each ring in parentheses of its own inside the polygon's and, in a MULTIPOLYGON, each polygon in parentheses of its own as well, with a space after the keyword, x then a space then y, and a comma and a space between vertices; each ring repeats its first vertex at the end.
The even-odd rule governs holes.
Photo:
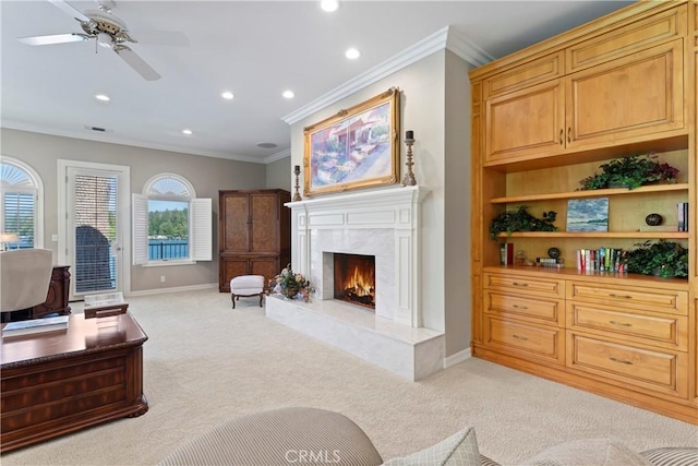
POLYGON ((654 182, 676 182, 678 169, 666 163, 659 163, 652 154, 631 155, 614 158, 601 166, 601 174, 593 174, 579 181, 580 190, 606 188, 635 189, 654 182))

